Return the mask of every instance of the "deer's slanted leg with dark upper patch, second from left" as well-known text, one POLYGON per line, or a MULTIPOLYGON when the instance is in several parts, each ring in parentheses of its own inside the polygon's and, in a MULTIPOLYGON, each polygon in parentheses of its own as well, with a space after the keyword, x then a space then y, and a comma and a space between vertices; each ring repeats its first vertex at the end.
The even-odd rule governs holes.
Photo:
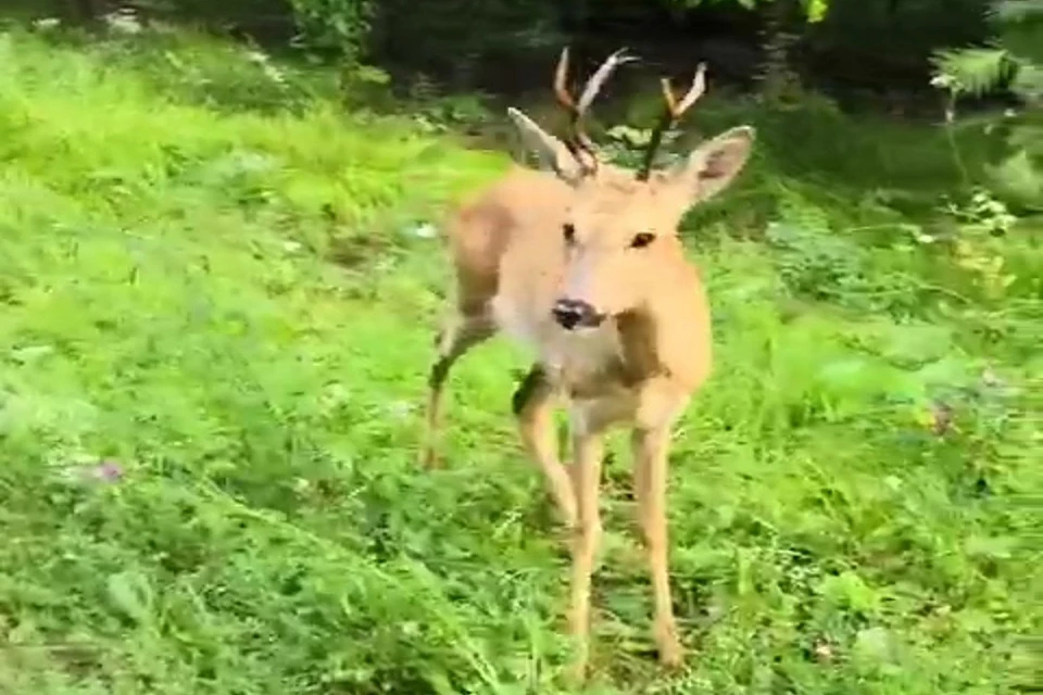
POLYGON ((543 470, 562 521, 574 529, 577 521, 576 492, 568 471, 557 457, 553 419, 556 391, 548 378, 546 369, 537 364, 518 384, 511 405, 518 419, 522 443, 543 470))

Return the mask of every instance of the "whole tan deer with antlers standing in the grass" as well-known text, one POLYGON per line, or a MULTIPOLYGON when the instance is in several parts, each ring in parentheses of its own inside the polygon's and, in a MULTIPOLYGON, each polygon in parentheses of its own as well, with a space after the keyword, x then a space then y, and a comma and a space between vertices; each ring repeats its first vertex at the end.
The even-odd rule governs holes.
POLYGON ((585 117, 610 75, 637 60, 612 53, 579 92, 568 89, 568 47, 553 89, 566 112, 562 139, 522 111, 507 116, 539 166, 512 166, 453 210, 444 230, 454 269, 451 316, 436 338, 420 464, 437 468, 443 386, 470 349, 504 333, 533 362, 512 397, 522 444, 542 469, 570 534, 568 672, 582 682, 590 654, 590 589, 602 535, 604 438, 630 428, 638 525, 651 573, 653 635, 665 667, 683 661, 667 558, 667 456, 675 422, 711 372, 706 288, 686 257, 678 226, 687 212, 728 188, 755 141, 739 126, 655 166, 664 134, 705 91, 705 63, 677 97, 661 79, 665 108, 636 169, 604 161, 585 117), (557 453, 553 417, 567 405, 571 464, 557 453))

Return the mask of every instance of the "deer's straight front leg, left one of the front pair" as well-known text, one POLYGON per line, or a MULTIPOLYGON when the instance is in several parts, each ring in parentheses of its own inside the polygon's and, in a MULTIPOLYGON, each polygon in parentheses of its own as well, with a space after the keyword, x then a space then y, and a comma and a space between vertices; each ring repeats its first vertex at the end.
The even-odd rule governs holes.
POLYGON ((575 409, 571 417, 573 480, 579 510, 579 526, 573 538, 573 581, 569 631, 576 642, 570 677, 581 682, 590 657, 590 582, 594 570, 602 527, 599 510, 604 429, 575 409), (598 426, 595 426, 598 425, 598 426))

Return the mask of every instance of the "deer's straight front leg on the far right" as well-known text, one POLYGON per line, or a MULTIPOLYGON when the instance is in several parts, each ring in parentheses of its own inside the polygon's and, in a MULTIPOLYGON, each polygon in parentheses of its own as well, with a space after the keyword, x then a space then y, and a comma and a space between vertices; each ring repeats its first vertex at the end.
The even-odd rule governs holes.
POLYGON ((634 463, 634 496, 638 518, 649 556, 655 601, 654 634, 664 666, 678 666, 683 649, 677 636, 667 559, 666 471, 670 426, 638 427, 631 435, 634 463))

